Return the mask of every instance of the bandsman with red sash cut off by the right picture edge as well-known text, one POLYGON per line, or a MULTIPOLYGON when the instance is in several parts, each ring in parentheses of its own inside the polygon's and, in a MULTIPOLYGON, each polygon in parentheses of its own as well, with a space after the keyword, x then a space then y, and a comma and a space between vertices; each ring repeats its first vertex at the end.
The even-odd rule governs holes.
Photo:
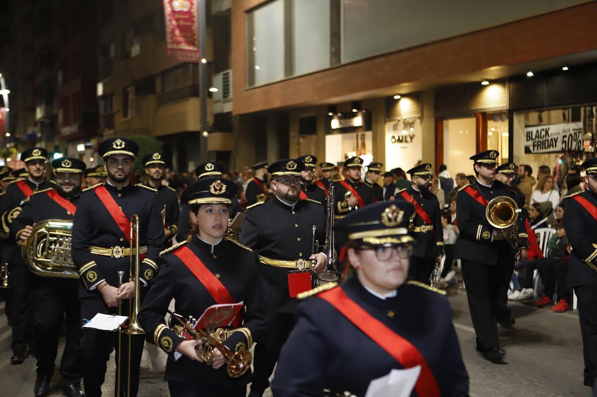
POLYGON ((597 157, 581 166, 586 190, 566 199, 564 228, 572 247, 568 286, 574 287, 578 298, 584 384, 593 386, 597 379, 597 157))

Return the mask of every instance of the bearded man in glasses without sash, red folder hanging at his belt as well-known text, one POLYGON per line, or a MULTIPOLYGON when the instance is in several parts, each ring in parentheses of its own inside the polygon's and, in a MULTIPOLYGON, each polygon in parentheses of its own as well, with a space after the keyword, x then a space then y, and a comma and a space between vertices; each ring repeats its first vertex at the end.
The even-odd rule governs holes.
POLYGON ((267 306, 267 328, 255 347, 250 396, 261 396, 290 331, 294 327, 297 294, 311 289, 311 273, 325 267, 325 254, 312 255, 315 238, 325 241, 325 207, 299 199, 304 163, 279 160, 269 166, 276 196, 247 207, 241 244, 259 254, 261 285, 267 306), (315 265, 312 264, 315 260, 315 265), (303 270, 306 272, 293 272, 303 270))

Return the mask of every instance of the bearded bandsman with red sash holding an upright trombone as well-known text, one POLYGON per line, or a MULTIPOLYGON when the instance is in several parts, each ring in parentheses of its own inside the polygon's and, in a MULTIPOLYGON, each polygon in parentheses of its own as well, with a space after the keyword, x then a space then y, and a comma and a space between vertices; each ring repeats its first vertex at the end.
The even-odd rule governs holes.
MULTIPOLYGON (((72 231, 72 257, 81 283, 79 301, 81 318, 91 320, 96 314, 115 314, 122 299, 122 313, 128 313, 134 295, 134 281, 129 281, 131 241, 130 219, 139 216, 139 279, 141 298, 147 284, 158 270, 159 252, 165 248, 164 224, 158 208, 156 191, 134 186, 129 177, 139 146, 129 138, 109 138, 101 142, 99 154, 107 169, 105 185, 87 188, 81 194, 72 231), (125 272, 125 280, 118 288, 118 272, 125 272)), ((106 376, 106 362, 113 351, 118 333, 85 329, 82 331, 81 353, 85 393, 88 397, 101 395, 106 376)), ((128 352, 128 336, 121 339, 122 352, 128 352)), ((139 388, 139 365, 144 335, 131 336, 131 393, 139 388)), ((117 355, 118 356, 118 355, 117 355)), ((118 363, 118 359, 116 359, 118 363)), ((121 390, 127 391, 128 354, 120 360, 121 390)), ((117 364, 118 365, 118 364, 117 364)), ((116 382, 115 382, 116 386, 116 382)), ((115 387, 116 389, 116 387, 115 387)))

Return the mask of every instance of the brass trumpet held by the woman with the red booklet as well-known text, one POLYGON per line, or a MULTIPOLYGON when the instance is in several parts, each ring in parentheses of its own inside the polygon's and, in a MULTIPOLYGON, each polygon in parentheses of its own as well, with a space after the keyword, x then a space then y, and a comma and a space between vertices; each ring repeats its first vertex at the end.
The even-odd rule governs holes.
POLYGON ((224 359, 226 359, 226 373, 229 377, 238 378, 243 376, 249 368, 251 368, 251 359, 253 355, 247 350, 241 350, 233 353, 218 342, 210 333, 206 330, 193 328, 193 322, 195 319, 192 317, 186 318, 179 312, 170 312, 170 318, 168 318, 168 327, 174 331, 178 336, 188 339, 198 340, 201 342, 198 346, 195 346, 195 352, 207 365, 211 365, 214 361, 214 349, 218 349, 224 359))

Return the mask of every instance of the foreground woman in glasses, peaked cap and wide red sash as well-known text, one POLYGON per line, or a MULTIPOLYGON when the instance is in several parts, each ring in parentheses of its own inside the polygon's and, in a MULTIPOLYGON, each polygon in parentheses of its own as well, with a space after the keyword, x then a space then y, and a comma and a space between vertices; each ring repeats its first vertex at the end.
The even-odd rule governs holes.
POLYGON ((299 296, 315 297, 298 305, 297 325, 272 382, 274 396, 362 397, 371 380, 416 365, 421 373, 413 396, 469 395, 450 303, 443 291, 407 281, 413 213, 411 204, 389 201, 337 222, 334 231, 347 240, 355 275, 299 296))

